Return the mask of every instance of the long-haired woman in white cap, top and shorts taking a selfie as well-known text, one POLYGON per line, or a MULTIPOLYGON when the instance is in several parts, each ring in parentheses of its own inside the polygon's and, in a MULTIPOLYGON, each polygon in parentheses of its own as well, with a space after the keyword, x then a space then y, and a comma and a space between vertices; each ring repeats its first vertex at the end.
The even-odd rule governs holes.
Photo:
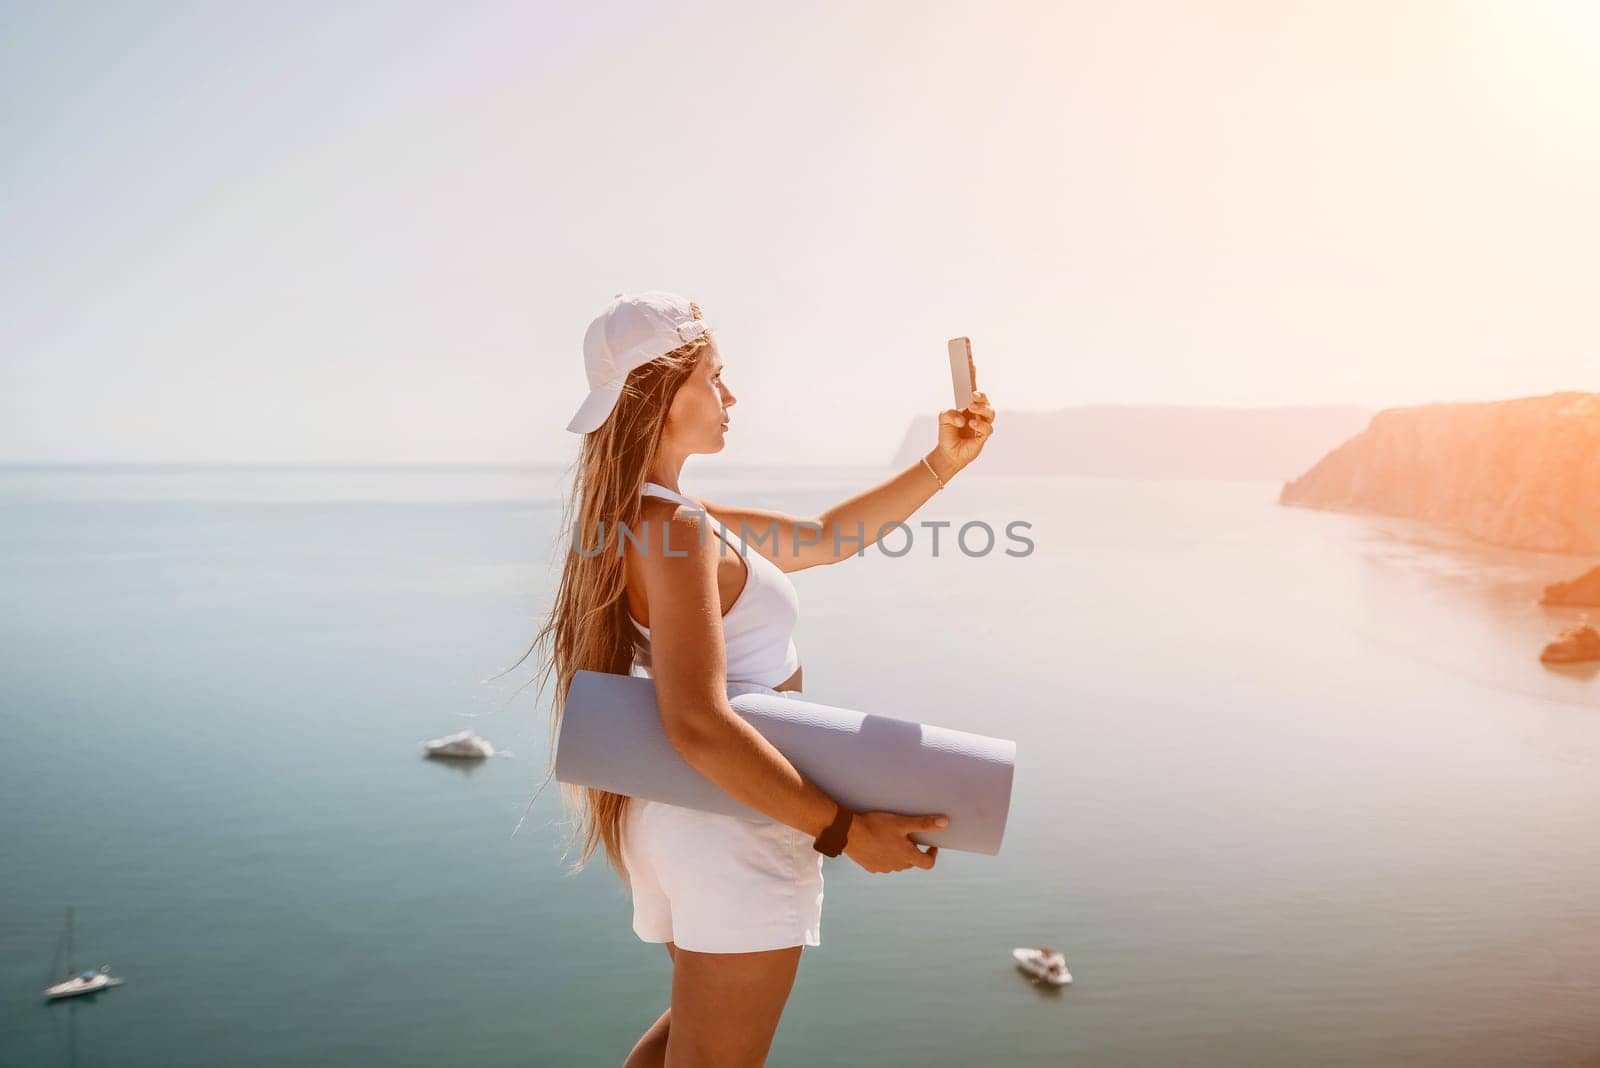
POLYGON ((584 441, 562 524, 574 544, 536 640, 549 651, 544 676, 557 678, 552 739, 574 671, 643 667, 674 748, 771 817, 562 785, 581 815, 578 868, 605 846, 632 892, 634 931, 672 958, 670 1007, 626 1065, 762 1065, 802 948, 821 945, 822 857, 843 852, 867 871, 933 868, 938 847, 923 851, 909 835, 946 822, 837 804, 730 697, 800 692, 787 572, 875 544, 978 457, 994 411, 974 393, 971 408, 941 412, 939 441, 922 460, 824 512, 821 531, 803 529, 797 516, 678 489, 685 459, 722 451, 734 404, 698 305, 619 293, 589 326, 584 361, 590 393, 568 424, 584 441))

